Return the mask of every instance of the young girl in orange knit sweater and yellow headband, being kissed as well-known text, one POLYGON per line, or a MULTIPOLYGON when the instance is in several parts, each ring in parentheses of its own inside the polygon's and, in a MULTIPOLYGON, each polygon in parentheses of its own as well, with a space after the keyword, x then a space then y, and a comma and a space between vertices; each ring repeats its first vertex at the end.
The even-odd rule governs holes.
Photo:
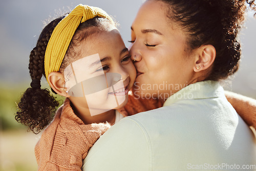
POLYGON ((31 88, 16 120, 38 132, 49 124, 58 102, 40 89, 42 75, 67 97, 35 147, 38 170, 81 170, 89 148, 122 116, 136 77, 130 54, 112 18, 78 5, 42 30, 29 63, 31 88))

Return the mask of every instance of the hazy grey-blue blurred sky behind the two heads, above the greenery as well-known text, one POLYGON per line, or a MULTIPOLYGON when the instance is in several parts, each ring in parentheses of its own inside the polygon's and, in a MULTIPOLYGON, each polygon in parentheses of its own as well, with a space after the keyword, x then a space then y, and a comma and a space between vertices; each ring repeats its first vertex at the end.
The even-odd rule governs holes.
MULTIPOLYGON (((0 82, 18 84, 30 81, 28 62, 30 51, 48 22, 78 4, 100 7, 114 16, 126 46, 130 40, 130 27, 143 0, 94 1, 35 1, 17 0, 0 2, 0 82), (61 12, 60 12, 61 11, 61 12)), ((229 90, 256 98, 256 19, 249 15, 247 29, 241 33, 242 62, 229 90)), ((28 84, 29 86, 29 84, 28 84)))

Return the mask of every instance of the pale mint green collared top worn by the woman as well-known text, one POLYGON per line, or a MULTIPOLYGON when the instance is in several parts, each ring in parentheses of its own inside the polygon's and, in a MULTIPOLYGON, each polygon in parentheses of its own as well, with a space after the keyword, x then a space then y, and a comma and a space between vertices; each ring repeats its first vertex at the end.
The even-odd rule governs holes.
POLYGON ((162 108, 116 123, 90 149, 82 169, 246 170, 256 165, 254 140, 220 84, 202 81, 170 96, 162 108))

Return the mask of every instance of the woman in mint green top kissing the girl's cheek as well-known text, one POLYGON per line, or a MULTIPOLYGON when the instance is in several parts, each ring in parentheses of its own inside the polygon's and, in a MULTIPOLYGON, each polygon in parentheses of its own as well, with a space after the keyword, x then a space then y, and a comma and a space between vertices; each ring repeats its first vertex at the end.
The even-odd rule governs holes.
POLYGON ((218 83, 238 70, 244 8, 223 0, 142 5, 132 25, 133 93, 164 105, 112 126, 84 170, 255 169, 247 167, 255 166, 254 136, 218 83))

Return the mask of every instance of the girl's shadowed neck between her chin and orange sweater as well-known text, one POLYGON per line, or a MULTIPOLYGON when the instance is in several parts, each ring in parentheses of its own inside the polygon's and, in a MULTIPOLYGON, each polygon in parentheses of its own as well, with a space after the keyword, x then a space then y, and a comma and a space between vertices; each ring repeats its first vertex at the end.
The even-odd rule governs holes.
POLYGON ((72 100, 70 101, 70 105, 74 113, 83 121, 84 124, 109 122, 111 125, 113 125, 115 123, 115 110, 110 110, 100 113, 98 115, 91 116, 89 108, 77 106, 74 103, 72 103, 72 100))

